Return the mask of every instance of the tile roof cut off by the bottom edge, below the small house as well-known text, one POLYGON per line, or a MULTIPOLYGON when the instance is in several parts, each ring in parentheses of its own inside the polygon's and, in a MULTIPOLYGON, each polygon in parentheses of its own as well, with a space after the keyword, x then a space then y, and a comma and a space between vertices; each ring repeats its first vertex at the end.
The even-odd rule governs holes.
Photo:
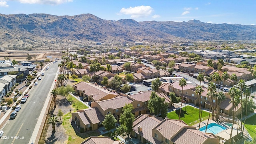
POLYGON ((120 144, 119 142, 106 136, 90 136, 80 144, 120 144))

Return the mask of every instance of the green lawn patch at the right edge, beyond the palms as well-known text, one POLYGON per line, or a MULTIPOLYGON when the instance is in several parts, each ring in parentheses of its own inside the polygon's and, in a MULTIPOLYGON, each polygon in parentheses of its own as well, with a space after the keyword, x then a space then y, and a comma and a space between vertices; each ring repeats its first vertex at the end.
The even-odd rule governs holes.
POLYGON ((256 115, 246 119, 245 128, 252 138, 256 137, 256 115))

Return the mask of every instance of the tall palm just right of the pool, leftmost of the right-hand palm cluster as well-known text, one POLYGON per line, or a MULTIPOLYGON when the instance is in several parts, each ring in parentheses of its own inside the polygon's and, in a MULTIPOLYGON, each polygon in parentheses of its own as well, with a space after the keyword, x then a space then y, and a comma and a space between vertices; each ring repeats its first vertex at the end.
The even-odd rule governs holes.
POLYGON ((232 131, 234 128, 234 122, 235 122, 235 114, 236 114, 236 107, 234 105, 234 101, 235 101, 235 97, 237 97, 239 95, 238 89, 235 87, 230 88, 228 94, 230 94, 231 97, 231 101, 232 101, 232 116, 233 116, 233 120, 232 120, 232 128, 231 128, 231 132, 230 132, 230 139, 232 138, 232 131))

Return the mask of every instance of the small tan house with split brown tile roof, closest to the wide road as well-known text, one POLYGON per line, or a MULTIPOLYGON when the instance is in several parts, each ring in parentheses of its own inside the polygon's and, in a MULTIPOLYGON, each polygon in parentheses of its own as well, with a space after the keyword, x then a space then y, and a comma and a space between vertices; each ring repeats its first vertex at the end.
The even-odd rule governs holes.
POLYGON ((88 108, 72 112, 72 122, 84 131, 97 130, 104 120, 98 108, 88 108))

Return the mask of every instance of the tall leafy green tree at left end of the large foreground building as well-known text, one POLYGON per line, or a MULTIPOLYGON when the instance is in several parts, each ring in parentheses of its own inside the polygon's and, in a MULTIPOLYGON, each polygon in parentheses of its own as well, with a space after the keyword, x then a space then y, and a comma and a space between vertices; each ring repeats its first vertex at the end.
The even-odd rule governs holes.
POLYGON ((122 109, 122 114, 120 115, 120 124, 123 124, 127 128, 127 135, 129 136, 130 132, 132 131, 132 124, 134 122, 135 116, 132 114, 133 110, 132 104, 125 104, 122 109))

